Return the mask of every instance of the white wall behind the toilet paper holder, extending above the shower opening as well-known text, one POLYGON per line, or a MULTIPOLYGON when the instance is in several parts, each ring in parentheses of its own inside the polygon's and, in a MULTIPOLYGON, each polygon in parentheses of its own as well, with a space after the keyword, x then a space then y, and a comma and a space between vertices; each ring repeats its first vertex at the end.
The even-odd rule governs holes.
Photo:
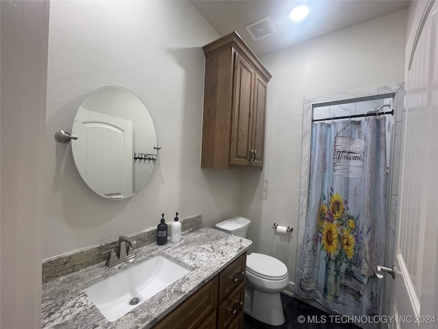
POLYGON ((303 100, 402 82, 406 18, 403 10, 261 58, 272 74, 266 164, 259 175, 246 173, 240 215, 253 221, 248 230, 253 251, 283 260, 291 282, 298 236, 303 100), (275 236, 274 222, 292 225, 292 239, 275 236))

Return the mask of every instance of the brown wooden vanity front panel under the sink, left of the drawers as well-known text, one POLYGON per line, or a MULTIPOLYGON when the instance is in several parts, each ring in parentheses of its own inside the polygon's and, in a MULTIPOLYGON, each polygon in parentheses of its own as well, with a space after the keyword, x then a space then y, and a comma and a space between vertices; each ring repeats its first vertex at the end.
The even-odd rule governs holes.
POLYGON ((205 284, 183 304, 159 321, 153 329, 198 329, 214 328, 216 306, 218 305, 218 277, 205 284), (214 313, 214 314, 213 314, 214 313))

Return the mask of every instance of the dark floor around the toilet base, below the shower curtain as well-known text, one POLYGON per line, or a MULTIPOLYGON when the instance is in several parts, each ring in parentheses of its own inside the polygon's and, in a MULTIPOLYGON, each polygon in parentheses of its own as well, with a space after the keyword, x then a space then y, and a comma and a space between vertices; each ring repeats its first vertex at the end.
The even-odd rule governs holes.
POLYGON ((285 313, 285 324, 270 326, 245 314, 244 329, 358 329, 357 326, 352 324, 333 323, 336 321, 331 321, 333 317, 330 317, 327 313, 284 293, 281 293, 281 302, 285 313), (300 323, 302 319, 305 319, 305 321, 300 323), (318 321, 320 323, 316 323, 318 321), (324 321, 325 323, 321 323, 324 321))

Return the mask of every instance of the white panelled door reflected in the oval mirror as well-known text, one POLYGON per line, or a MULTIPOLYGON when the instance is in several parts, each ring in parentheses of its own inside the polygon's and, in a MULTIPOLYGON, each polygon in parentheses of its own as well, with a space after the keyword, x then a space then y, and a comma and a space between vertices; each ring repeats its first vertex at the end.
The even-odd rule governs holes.
POLYGON ((72 147, 83 180, 107 198, 132 195, 132 121, 81 108, 75 125, 72 147))

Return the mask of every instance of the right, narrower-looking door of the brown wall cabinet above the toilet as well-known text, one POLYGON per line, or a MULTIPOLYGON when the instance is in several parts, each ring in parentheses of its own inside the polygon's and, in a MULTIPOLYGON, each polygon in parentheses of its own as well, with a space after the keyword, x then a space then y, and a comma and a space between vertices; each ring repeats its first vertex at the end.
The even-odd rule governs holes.
POLYGON ((265 147, 266 92, 268 84, 259 74, 255 74, 255 95, 253 106, 253 161, 251 165, 263 167, 265 147))

